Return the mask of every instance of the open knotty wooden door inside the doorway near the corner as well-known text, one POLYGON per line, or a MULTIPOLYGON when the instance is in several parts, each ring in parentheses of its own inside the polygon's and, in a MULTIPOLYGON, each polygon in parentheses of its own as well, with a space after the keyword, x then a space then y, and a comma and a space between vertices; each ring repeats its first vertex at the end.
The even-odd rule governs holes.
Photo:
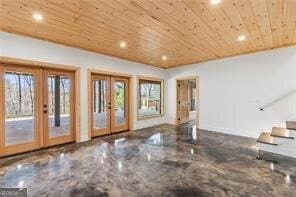
POLYGON ((189 81, 177 81, 177 118, 178 123, 183 124, 189 121, 190 114, 190 93, 189 81))

